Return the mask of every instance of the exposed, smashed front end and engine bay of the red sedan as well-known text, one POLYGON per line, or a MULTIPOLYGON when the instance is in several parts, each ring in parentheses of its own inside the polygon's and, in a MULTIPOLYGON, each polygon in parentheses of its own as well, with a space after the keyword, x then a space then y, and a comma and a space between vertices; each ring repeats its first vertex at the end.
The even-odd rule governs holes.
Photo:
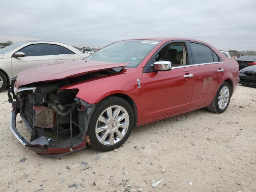
POLYGON ((13 78, 8 91, 8 100, 13 108, 12 132, 15 132, 14 135, 24 146, 42 155, 65 154, 85 148, 86 142, 90 144, 90 138, 86 134, 96 104, 88 104, 77 98, 78 89, 62 87, 109 76, 122 69, 112 68, 73 78, 37 82, 19 88, 16 88, 16 78, 13 78), (31 132, 30 142, 16 129, 18 113, 31 132))

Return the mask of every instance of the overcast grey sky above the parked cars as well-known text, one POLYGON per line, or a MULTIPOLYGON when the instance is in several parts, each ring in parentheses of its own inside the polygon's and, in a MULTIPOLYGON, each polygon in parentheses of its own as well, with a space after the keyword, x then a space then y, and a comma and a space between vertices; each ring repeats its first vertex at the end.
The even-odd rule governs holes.
POLYGON ((183 37, 256 50, 256 0, 1 0, 0 10, 0 42, 101 48, 128 38, 183 37))

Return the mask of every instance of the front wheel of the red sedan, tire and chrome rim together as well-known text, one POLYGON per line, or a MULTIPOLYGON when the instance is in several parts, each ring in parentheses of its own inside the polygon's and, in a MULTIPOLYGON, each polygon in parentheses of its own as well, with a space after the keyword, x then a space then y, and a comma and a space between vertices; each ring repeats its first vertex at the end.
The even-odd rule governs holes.
POLYGON ((116 96, 103 99, 90 119, 88 135, 93 148, 110 151, 121 146, 134 126, 134 113, 130 104, 116 96))

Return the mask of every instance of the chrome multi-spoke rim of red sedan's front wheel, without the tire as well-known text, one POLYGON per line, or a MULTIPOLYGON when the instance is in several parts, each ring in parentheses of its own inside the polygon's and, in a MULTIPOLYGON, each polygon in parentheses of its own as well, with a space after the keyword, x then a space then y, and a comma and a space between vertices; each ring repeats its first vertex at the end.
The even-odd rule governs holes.
POLYGON ((129 128, 129 114, 125 108, 114 105, 106 108, 98 117, 95 132, 98 141, 112 146, 124 138, 129 128))

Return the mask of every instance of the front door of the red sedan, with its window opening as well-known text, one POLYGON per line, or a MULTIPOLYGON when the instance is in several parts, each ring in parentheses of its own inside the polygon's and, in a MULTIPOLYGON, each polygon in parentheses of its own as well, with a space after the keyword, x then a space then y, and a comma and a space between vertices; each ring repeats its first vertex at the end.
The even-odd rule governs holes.
POLYGON ((170 61, 172 69, 142 74, 143 121, 190 108, 195 72, 194 66, 188 65, 191 63, 187 53, 185 42, 175 42, 164 46, 150 60, 152 64, 170 61))

